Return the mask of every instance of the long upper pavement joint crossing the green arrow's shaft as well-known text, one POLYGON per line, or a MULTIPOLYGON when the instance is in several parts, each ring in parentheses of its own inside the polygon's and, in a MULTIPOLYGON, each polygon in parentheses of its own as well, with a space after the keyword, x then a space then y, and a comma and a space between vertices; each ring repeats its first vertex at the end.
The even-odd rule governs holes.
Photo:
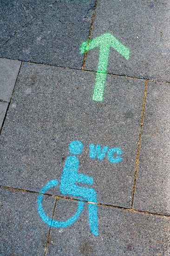
MULTIPOLYGON (((7 59, 7 60, 13 60, 13 61, 21 61, 22 63, 33 63, 33 64, 37 64, 37 65, 43 65, 43 66, 49 66, 49 67, 61 67, 61 68, 65 68, 65 69, 71 69, 71 70, 79 70, 79 71, 87 71, 87 72, 92 72, 92 73, 98 73, 98 71, 95 70, 89 70, 89 69, 80 69, 80 68, 75 68, 75 67, 62 67, 62 66, 57 66, 57 65, 53 65, 53 64, 47 64, 47 63, 42 63, 42 62, 34 62, 34 61, 23 61, 23 60, 19 60, 19 59, 10 59, 10 58, 1 58, 0 59, 7 59)), ((22 64, 21 63, 21 64, 22 64)), ((149 77, 141 77, 141 76, 130 76, 130 75, 126 75, 126 74, 113 74, 113 73, 104 73, 104 74, 109 74, 109 75, 113 75, 113 76, 122 76, 125 78, 133 78, 133 79, 141 79, 141 80, 148 80, 148 81, 156 81, 156 82, 160 82, 160 83, 167 83, 170 84, 169 81, 162 81, 162 80, 157 80, 154 78, 149 78, 149 77)))

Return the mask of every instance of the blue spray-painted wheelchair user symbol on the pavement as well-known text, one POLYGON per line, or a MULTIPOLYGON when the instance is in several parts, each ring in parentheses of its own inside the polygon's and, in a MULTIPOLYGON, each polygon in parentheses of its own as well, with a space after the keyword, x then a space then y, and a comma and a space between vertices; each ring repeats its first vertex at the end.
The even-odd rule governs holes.
MULTIPOLYGON (((70 155, 65 160, 65 167, 63 169, 59 189, 64 195, 78 196, 78 199, 84 199, 90 202, 97 202, 97 194, 94 189, 78 186, 76 183, 92 184, 93 178, 84 174, 78 173, 78 157, 83 150, 83 144, 81 141, 72 141, 69 145, 69 151, 73 155, 70 155)), ((46 190, 57 186, 57 180, 51 180, 48 182, 39 192, 44 194, 46 190)), ((43 195, 38 196, 37 206, 41 219, 49 226, 55 228, 65 228, 70 226, 80 216, 85 202, 78 202, 78 209, 76 213, 64 222, 50 219, 46 216, 42 207, 43 195)), ((98 236, 98 205, 88 203, 88 222, 93 235, 98 236)))

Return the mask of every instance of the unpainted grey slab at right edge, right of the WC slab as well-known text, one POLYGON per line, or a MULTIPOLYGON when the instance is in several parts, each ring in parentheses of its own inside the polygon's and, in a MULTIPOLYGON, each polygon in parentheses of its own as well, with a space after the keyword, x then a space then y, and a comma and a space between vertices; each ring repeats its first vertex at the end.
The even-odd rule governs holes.
POLYGON ((134 208, 170 215, 170 86, 148 83, 134 208))

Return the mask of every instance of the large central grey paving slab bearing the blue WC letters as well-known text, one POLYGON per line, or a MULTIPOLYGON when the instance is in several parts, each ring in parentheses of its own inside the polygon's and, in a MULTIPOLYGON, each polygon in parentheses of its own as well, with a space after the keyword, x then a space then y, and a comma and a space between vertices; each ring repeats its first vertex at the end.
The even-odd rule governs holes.
MULTIPOLYGON (((92 101, 95 77, 22 64, 1 133, 2 185, 39 191, 59 181, 69 143, 79 140, 84 149, 78 172, 93 177, 97 201, 130 207, 144 81, 108 75, 104 101, 97 102, 92 101), (91 143, 120 148, 122 160, 110 162, 107 154, 102 161, 90 158, 91 143)), ((59 195, 59 186, 49 193, 59 195)))

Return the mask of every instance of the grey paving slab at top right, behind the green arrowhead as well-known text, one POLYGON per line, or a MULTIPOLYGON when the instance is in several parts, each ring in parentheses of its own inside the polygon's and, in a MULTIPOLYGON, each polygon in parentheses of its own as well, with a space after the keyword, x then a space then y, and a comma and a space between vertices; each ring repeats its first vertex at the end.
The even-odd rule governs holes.
MULTIPOLYGON (((91 39, 109 32, 130 49, 126 60, 111 47, 107 72, 170 81, 169 13, 169 0, 98 1, 91 39)), ((85 69, 98 69, 98 55, 87 53, 85 69)))

